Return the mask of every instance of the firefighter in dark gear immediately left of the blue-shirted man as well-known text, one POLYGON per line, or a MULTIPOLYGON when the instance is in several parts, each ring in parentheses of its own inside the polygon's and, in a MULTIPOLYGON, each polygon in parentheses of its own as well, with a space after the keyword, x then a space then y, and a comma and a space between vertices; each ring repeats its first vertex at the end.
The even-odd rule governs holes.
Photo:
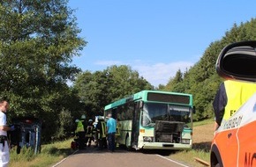
POLYGON ((98 117, 98 123, 96 126, 97 134, 98 134, 98 145, 99 149, 106 149, 107 139, 106 139, 106 122, 102 116, 98 117))

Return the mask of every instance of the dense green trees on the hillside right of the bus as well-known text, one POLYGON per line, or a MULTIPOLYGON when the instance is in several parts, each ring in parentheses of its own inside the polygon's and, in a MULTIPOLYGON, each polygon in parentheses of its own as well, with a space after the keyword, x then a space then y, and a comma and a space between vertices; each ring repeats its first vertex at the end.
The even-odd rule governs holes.
POLYGON ((223 47, 242 40, 256 40, 255 18, 240 25, 234 24, 221 40, 210 43, 200 61, 185 72, 181 82, 177 83, 170 80, 165 87, 165 90, 168 91, 185 92, 193 95, 197 111, 194 120, 203 120, 214 116, 212 103, 215 93, 222 83, 222 78, 217 76, 215 72, 215 62, 223 47))

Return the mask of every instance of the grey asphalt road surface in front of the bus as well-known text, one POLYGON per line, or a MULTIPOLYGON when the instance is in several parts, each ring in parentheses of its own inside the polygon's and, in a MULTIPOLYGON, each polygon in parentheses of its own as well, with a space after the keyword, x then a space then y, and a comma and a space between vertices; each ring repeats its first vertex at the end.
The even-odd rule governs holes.
POLYGON ((111 153, 108 149, 98 150, 90 147, 76 151, 52 167, 188 167, 169 159, 168 156, 159 154, 131 152, 124 149, 116 149, 111 153))

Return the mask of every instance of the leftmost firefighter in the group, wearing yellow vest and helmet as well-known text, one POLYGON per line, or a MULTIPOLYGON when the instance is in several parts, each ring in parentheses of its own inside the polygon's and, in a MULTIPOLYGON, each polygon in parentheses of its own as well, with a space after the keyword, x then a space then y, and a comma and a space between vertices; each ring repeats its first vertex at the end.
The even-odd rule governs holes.
POLYGON ((86 115, 82 115, 80 120, 76 120, 78 125, 75 133, 78 135, 77 142, 79 144, 79 149, 86 149, 85 120, 86 115))

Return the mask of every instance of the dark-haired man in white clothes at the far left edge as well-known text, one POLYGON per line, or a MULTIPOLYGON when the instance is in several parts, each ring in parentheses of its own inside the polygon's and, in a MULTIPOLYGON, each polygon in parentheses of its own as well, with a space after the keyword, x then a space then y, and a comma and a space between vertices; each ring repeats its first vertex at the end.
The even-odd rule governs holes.
POLYGON ((15 130, 14 126, 7 126, 5 113, 9 109, 9 104, 5 100, 0 101, 0 166, 7 167, 10 161, 9 146, 7 142, 7 131, 15 130))

